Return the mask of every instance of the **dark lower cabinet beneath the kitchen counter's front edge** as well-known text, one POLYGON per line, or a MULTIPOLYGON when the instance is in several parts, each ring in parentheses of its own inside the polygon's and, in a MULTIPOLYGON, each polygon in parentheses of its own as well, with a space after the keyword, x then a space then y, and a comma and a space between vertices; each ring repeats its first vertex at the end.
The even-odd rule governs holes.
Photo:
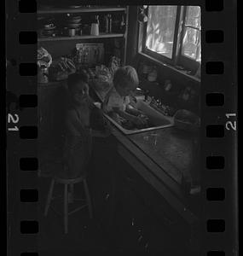
MULTIPOLYGON (((197 234, 192 232, 192 226, 125 160, 120 161, 115 218, 118 247, 151 255, 197 255, 192 245, 197 234)), ((198 245, 195 247, 199 249, 198 245)))

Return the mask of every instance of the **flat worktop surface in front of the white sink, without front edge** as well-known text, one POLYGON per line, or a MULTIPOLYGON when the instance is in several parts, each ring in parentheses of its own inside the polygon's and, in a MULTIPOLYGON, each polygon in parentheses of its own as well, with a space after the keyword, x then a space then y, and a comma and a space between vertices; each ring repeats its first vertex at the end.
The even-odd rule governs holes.
MULTIPOLYGON (((103 102, 106 91, 98 91, 97 87, 93 87, 93 90, 103 102)), ((199 164, 196 160, 199 142, 194 134, 180 131, 174 126, 132 135, 125 135, 115 130, 118 129, 113 128, 116 137, 127 137, 176 183, 199 181, 200 166, 196 166, 197 163, 199 164)))

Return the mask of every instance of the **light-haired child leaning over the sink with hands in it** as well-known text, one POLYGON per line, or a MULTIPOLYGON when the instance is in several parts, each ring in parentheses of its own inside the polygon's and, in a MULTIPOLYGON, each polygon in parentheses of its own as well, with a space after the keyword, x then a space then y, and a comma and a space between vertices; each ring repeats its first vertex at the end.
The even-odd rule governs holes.
POLYGON ((142 118, 142 112, 130 105, 130 97, 133 90, 139 83, 136 69, 134 67, 119 67, 114 74, 113 87, 107 93, 103 102, 103 110, 113 118, 119 116, 129 120, 135 125, 146 124, 146 119, 142 118))

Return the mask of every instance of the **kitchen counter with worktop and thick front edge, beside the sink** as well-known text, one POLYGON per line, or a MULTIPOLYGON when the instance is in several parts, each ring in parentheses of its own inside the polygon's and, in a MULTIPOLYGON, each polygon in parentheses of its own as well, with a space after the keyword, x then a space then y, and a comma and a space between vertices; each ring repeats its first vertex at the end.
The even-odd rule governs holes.
MULTIPOLYGON (((101 93, 96 95, 101 100, 101 93)), ((185 184, 198 181, 200 166, 196 160, 198 144, 192 134, 175 127, 124 135, 111 124, 123 159, 165 198, 190 225, 198 222, 197 213, 188 200, 185 184), (193 174, 193 175, 192 175, 193 174), (193 177, 192 177, 193 176, 193 177)))

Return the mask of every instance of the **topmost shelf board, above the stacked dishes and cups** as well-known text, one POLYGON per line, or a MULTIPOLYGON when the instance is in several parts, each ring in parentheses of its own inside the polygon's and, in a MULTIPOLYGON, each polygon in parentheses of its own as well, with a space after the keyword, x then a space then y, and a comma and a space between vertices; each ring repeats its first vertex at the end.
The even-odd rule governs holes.
POLYGON ((114 8, 73 8, 73 9, 39 9, 38 15, 51 15, 51 14, 75 14, 75 13, 95 13, 95 12, 117 12, 124 11, 125 7, 114 7, 114 8))

